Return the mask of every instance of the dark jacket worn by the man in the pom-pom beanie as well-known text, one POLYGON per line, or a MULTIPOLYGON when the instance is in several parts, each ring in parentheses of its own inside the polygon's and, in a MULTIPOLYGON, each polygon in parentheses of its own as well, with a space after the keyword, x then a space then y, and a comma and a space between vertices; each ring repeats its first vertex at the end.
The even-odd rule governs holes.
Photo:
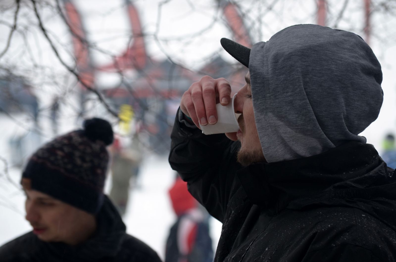
POLYGON ((108 197, 97 215, 97 232, 70 246, 41 241, 32 232, 0 247, 1 262, 160 262, 154 250, 126 234, 126 227, 108 197))

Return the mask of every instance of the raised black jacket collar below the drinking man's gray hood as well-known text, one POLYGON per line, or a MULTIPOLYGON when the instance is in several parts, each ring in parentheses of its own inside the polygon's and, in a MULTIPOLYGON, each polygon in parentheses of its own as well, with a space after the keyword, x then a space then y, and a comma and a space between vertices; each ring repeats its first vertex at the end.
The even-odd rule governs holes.
POLYGON ((373 145, 351 141, 308 158, 255 163, 237 175, 251 203, 279 211, 293 199, 317 196, 329 188, 384 184, 388 171, 373 145), (383 172, 370 172, 378 168, 383 172))

